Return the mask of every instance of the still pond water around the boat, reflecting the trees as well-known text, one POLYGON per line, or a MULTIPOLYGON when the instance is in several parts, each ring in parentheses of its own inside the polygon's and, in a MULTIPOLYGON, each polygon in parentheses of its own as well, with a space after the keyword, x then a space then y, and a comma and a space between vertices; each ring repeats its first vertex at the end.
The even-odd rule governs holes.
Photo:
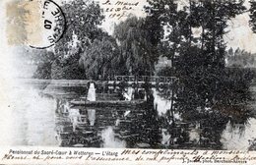
MULTIPOLYGON (((171 101, 162 94, 169 94, 167 89, 153 88, 145 106, 128 107, 71 107, 70 100, 87 96, 82 88, 20 86, 14 91, 11 110, 3 112, 11 120, 0 122, 8 128, 1 144, 248 149, 256 138, 254 118, 241 124, 215 115, 192 122, 177 112, 167 115, 171 101)), ((115 92, 96 93, 96 100, 117 99, 115 92)))

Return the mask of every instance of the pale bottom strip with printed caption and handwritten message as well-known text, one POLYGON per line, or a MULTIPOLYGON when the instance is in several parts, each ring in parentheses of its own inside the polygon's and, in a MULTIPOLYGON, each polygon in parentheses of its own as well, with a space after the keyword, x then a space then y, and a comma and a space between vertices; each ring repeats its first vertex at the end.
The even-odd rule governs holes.
POLYGON ((12 163, 160 163, 160 164, 255 164, 256 153, 237 150, 170 150, 170 149, 8 149, 1 151, 1 162, 12 163))

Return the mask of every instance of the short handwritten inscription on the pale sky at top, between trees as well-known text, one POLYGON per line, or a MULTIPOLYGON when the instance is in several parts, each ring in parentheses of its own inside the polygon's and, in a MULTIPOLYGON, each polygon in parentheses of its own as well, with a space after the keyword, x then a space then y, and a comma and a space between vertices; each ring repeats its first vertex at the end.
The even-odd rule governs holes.
POLYGON ((128 17, 134 8, 139 5, 139 1, 112 1, 105 0, 101 3, 104 13, 109 18, 116 18, 120 20, 121 18, 128 17))

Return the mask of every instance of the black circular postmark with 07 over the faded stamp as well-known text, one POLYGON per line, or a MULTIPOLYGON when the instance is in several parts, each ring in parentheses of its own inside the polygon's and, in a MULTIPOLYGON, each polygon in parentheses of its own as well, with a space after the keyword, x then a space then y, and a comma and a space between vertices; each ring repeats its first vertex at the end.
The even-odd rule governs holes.
POLYGON ((58 42, 66 29, 66 19, 61 8, 52 0, 41 3, 36 32, 37 40, 30 42, 32 48, 44 49, 58 42), (38 39, 39 38, 39 39, 38 39))

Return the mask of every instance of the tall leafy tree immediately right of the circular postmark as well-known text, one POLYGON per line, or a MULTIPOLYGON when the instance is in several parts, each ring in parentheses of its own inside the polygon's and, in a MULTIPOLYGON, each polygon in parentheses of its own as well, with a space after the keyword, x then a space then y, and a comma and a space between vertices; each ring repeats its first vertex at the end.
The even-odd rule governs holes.
POLYGON ((94 1, 64 2, 61 8, 66 18, 66 29, 63 37, 54 46, 54 58, 51 59, 50 66, 51 79, 86 79, 85 71, 79 68, 79 60, 96 38, 100 39, 105 35, 98 27, 103 15, 94 1))

